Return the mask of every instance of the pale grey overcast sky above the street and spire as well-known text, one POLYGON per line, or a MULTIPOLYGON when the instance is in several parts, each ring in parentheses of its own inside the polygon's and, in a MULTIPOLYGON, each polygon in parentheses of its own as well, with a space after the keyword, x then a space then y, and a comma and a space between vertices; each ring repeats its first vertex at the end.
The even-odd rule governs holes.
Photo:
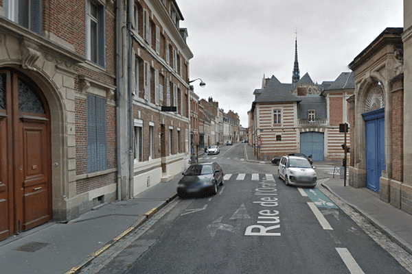
POLYGON ((402 0, 176 0, 194 53, 190 79, 248 127, 263 75, 292 82, 295 32, 300 76, 333 81, 386 27, 403 27, 402 0))

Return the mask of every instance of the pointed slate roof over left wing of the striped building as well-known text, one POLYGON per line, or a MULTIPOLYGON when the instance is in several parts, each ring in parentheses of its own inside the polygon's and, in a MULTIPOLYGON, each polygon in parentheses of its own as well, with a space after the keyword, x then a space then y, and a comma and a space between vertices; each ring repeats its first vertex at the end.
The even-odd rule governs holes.
POLYGON ((298 97, 290 93, 292 84, 282 84, 279 80, 272 76, 262 90, 262 93, 255 98, 253 103, 282 103, 282 102, 299 102, 298 97))

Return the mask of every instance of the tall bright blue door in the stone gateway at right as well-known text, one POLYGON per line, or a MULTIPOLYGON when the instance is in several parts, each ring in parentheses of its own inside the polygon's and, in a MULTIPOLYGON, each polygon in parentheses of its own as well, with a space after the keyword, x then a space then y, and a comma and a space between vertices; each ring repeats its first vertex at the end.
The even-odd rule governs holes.
POLYGON ((365 120, 366 187, 379 192, 379 178, 385 170, 385 108, 362 116, 365 120))

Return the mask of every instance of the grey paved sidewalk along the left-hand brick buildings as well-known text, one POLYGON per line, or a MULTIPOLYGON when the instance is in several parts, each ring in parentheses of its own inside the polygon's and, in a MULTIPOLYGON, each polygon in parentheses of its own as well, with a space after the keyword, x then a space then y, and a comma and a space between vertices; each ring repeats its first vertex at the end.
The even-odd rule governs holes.
POLYGON ((76 273, 96 252, 176 197, 175 175, 128 201, 114 201, 68 223, 49 222, 0 242, 0 273, 76 273), (147 214, 147 216, 146 216, 147 214))

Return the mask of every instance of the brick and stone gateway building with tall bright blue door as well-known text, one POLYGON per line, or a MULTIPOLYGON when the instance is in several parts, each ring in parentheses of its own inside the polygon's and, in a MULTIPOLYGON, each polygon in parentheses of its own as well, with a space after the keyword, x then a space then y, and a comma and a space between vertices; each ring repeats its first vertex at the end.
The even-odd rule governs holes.
POLYGON ((412 214, 412 177, 404 173, 411 168, 407 159, 412 153, 407 92, 412 49, 407 27, 407 21, 406 31, 388 27, 349 65, 356 86, 347 100, 353 128, 349 182, 378 192, 383 201, 412 214))

